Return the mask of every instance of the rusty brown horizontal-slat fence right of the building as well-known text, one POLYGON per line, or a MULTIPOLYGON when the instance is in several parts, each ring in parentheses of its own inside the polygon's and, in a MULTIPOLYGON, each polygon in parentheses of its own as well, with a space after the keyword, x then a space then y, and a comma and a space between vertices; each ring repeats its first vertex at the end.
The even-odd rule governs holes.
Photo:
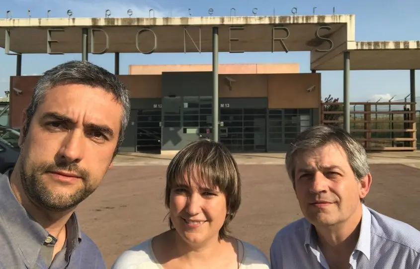
MULTIPOLYGON (((420 98, 350 102, 350 132, 367 150, 415 150, 420 146, 420 98), (390 102, 391 101, 391 102, 390 102), (417 138, 416 138, 417 137, 417 138)), ((321 121, 343 124, 343 103, 323 102, 321 121)))

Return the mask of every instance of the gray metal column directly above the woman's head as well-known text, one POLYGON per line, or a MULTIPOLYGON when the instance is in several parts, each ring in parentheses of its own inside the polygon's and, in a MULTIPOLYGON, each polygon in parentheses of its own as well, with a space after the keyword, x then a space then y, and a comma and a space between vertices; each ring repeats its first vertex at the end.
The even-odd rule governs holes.
POLYGON ((213 140, 219 141, 219 28, 213 27, 213 140))

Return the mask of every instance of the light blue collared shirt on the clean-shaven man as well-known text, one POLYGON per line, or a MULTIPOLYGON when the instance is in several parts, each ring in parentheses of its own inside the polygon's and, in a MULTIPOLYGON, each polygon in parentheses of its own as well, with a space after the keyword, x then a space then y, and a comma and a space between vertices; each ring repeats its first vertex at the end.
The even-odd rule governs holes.
MULTIPOLYGON (((348 261, 350 269, 420 269, 420 231, 362 205, 359 239, 348 261)), ((271 269, 329 269, 318 247, 315 228, 305 218, 275 236, 271 269)))

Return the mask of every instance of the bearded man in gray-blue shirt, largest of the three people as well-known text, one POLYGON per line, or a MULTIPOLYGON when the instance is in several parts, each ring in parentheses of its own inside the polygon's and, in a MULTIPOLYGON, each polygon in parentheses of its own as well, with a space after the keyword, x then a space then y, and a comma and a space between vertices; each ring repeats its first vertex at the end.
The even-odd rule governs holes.
POLYGON ((0 268, 102 269, 77 205, 98 187, 124 137, 126 87, 105 69, 70 61, 38 80, 20 155, 0 177, 0 268))

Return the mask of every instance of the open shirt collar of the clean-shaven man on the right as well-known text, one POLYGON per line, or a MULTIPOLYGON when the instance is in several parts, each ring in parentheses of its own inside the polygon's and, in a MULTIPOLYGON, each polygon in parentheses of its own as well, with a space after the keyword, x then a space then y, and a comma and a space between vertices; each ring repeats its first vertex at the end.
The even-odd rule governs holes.
MULTIPOLYGON (((360 224, 360 233, 359 239, 357 240, 356 247, 354 250, 360 251, 363 253, 368 260, 370 260, 370 227, 371 227, 372 216, 369 209, 362 204, 362 221, 360 224)), ((307 253, 309 248, 313 250, 318 249, 318 236, 315 230, 314 225, 309 223, 308 229, 306 231, 305 237, 305 250, 307 253)))

